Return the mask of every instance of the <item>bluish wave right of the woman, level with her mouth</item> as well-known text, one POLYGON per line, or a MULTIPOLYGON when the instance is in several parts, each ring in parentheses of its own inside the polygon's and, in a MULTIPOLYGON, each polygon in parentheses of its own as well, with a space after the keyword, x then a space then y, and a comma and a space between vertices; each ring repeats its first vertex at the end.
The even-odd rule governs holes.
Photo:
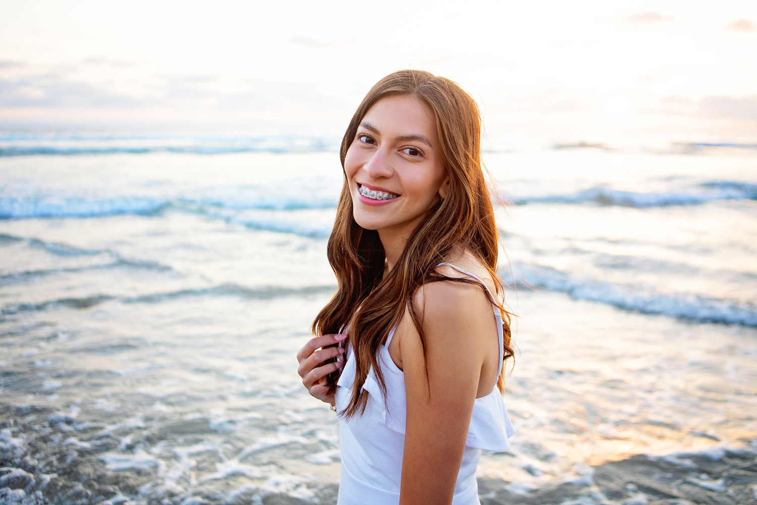
POLYGON ((687 191, 633 192, 598 185, 566 195, 544 195, 508 198, 515 204, 560 203, 621 205, 625 207, 665 207, 669 205, 696 205, 715 200, 757 200, 757 184, 741 181, 703 182, 687 191))

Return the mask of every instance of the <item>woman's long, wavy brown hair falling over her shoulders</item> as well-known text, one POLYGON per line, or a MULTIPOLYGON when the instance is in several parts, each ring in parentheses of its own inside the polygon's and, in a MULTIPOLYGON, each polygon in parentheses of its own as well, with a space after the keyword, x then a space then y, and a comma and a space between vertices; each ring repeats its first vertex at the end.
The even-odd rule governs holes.
MULTIPOLYGON (((475 101, 456 83, 422 70, 400 70, 373 86, 357 108, 341 141, 341 166, 368 110, 382 98, 410 95, 434 114, 444 169, 450 177, 447 198, 432 205, 408 237, 397 264, 384 276, 385 252, 378 232, 359 226, 352 214, 347 176, 341 189, 334 229, 329 237, 329 263, 336 274, 338 290, 313 321, 316 335, 337 333, 349 326, 349 345, 356 360, 352 398, 344 415, 354 416, 366 407, 363 384, 374 370, 382 392, 386 387, 377 352, 389 332, 409 310, 419 332, 423 353, 425 334, 413 304, 413 295, 428 282, 453 281, 480 284, 473 279, 442 276, 439 263, 455 251, 471 251, 487 268, 496 285, 498 235, 491 196, 481 165, 481 117, 475 101)), ((481 288, 484 286, 481 285, 481 288)), ((499 297, 497 297, 499 298, 499 297)), ((509 313, 503 311, 504 357, 512 357, 509 313)), ((497 385, 504 388, 504 373, 497 385)), ((336 390, 338 373, 326 379, 329 393, 336 390)))

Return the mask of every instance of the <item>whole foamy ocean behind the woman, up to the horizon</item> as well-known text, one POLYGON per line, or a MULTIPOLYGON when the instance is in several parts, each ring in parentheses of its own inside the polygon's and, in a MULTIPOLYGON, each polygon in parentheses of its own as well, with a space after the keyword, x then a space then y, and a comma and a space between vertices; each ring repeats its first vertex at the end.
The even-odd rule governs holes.
MULTIPOLYGON (((338 138, 0 133, 0 502, 335 503, 296 351, 338 138)), ((757 149, 484 154, 516 363, 481 503, 757 503, 757 149)))

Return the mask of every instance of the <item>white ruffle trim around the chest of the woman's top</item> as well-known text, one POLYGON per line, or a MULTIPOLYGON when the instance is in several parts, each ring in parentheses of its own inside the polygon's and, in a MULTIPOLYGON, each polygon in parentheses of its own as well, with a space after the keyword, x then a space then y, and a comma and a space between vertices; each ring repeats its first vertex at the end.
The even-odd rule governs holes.
MULTIPOLYGON (((394 432, 405 435, 407 396, 404 373, 391 360, 388 348, 385 345, 379 348, 378 362, 384 373, 387 388, 386 401, 373 369, 368 373, 366 382, 363 384, 363 390, 368 391, 369 402, 378 407, 379 419, 385 426, 394 432)), ((355 382, 355 373, 355 360, 352 357, 352 351, 348 349, 347 363, 344 363, 337 385, 351 390, 355 382)), ((500 394, 496 385, 490 394, 476 398, 466 446, 482 450, 507 450, 510 447, 507 439, 512 437, 514 432, 502 394, 500 394)))

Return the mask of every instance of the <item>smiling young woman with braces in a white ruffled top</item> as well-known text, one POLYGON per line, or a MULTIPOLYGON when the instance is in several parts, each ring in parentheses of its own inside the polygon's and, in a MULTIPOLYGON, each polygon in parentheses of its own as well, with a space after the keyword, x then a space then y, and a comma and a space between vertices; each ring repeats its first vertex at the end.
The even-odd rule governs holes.
POLYGON ((480 137, 475 101, 419 70, 373 86, 344 134, 338 291, 298 353, 303 384, 339 416, 341 505, 479 503, 481 450, 509 448, 480 137))

